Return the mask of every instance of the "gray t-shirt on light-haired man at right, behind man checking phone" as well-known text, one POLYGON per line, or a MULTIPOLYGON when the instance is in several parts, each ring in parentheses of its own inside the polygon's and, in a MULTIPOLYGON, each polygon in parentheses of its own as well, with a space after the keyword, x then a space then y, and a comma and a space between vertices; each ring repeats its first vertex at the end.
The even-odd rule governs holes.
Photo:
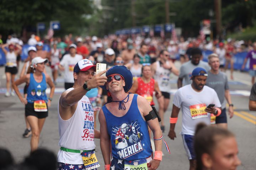
POLYGON ((226 108, 225 90, 229 90, 228 78, 223 72, 212 74, 208 72, 206 85, 214 89, 219 97, 222 109, 226 108))

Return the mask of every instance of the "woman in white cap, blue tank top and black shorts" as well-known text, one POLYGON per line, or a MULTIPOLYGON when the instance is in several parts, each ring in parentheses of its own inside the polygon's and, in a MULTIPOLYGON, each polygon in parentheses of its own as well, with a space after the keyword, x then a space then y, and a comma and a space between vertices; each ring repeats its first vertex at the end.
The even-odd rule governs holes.
POLYGON ((32 131, 31 152, 38 147, 40 132, 48 116, 48 107, 50 107, 55 89, 52 79, 49 75, 43 73, 45 63, 47 62, 47 59, 41 57, 33 58, 30 73, 18 79, 13 84, 18 98, 25 104, 25 115, 32 131), (17 87, 22 83, 28 84, 27 98, 22 97, 17 87), (50 96, 48 99, 46 96, 47 84, 50 86, 50 96))

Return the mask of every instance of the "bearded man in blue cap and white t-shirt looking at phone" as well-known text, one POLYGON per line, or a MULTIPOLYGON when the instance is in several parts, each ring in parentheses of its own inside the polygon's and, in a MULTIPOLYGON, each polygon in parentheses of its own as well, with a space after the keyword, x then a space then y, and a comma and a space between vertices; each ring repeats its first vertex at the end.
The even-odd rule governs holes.
POLYGON ((178 113, 182 108, 182 140, 190 161, 190 170, 196 169, 196 157, 193 149, 193 137, 196 125, 199 122, 210 124, 210 114, 218 116, 221 113, 221 104, 214 89, 204 86, 207 72, 197 67, 193 70, 192 84, 178 89, 174 95, 172 114, 170 117, 170 131, 168 136, 174 140, 174 131, 178 113))

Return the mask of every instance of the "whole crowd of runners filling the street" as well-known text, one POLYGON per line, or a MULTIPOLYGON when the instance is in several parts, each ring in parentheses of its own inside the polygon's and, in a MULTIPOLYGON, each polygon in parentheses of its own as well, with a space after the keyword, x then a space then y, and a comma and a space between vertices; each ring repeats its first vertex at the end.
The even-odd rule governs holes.
POLYGON ((168 136, 174 140, 181 108, 181 135, 190 170, 240 165, 234 135, 227 130, 226 112, 232 118, 234 105, 224 72, 230 64, 230 79, 234 79, 234 54, 248 52, 242 69, 250 58, 249 73, 254 84, 256 42, 200 38, 173 41, 115 35, 73 37, 69 34, 50 41, 32 35, 28 44, 28 57, 21 73, 18 67, 23 43, 9 37, 6 44, 1 44, 6 57, 5 96, 15 96, 15 91, 25 104, 23 137, 31 136, 33 153, 38 148, 58 76, 63 74, 66 91, 56 108, 60 135, 59 170, 96 169, 99 165, 94 138, 100 138, 105 170, 157 169, 162 160, 162 132, 169 131, 168 136), (49 51, 43 50, 46 44, 50 46, 49 51), (213 51, 208 62, 202 61, 203 50, 213 51), (174 64, 176 60, 182 64, 180 69, 174 64), (96 63, 107 64, 107 70, 96 75, 96 63), (46 67, 52 69, 52 75, 46 73, 46 67), (102 75, 104 73, 106 76, 102 75), (16 77, 18 74, 20 78, 16 77), (168 113, 171 115, 169 127, 160 120, 164 120, 169 108, 172 74, 178 76, 178 91, 171 104, 172 113, 168 113), (22 83, 25 83, 24 94, 17 87, 22 83), (50 87, 48 97, 47 84, 50 87), (158 111, 154 107, 156 102, 158 111), (97 119, 100 130, 96 130, 97 119), (198 125, 201 122, 204 124, 198 125), (210 124, 216 126, 210 127, 210 124), (208 139, 204 137, 206 134, 208 139), (229 164, 218 162, 215 152, 218 157, 225 157, 221 155, 225 147, 220 148, 218 143, 224 146, 230 141, 234 144, 230 153, 233 161, 229 164), (201 145, 215 150, 201 148, 201 145))

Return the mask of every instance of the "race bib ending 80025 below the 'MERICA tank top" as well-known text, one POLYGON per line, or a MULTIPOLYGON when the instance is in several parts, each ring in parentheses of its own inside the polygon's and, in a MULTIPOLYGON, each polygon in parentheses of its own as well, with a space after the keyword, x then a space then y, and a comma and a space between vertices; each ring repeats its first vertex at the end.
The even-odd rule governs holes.
POLYGON ((148 170, 146 159, 124 160, 124 170, 148 170))

